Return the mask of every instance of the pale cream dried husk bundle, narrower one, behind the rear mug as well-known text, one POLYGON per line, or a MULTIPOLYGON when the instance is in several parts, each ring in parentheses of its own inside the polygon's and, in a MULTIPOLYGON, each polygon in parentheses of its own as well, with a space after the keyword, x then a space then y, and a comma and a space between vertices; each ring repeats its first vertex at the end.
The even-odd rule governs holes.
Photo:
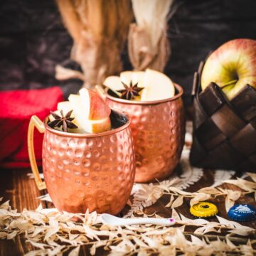
POLYGON ((135 70, 163 71, 171 54, 167 20, 173 0, 132 0, 136 23, 129 28, 129 58, 135 70))

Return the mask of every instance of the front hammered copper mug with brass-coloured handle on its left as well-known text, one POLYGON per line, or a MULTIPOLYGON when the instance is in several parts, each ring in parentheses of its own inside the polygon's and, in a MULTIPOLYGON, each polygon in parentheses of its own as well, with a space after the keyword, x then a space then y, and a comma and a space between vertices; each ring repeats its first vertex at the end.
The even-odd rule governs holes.
MULTIPOLYGON (((134 142, 131 121, 115 112, 125 124, 100 134, 60 132, 35 115, 28 127, 28 154, 39 190, 47 188, 60 211, 116 215, 124 208, 134 183, 134 142), (33 130, 44 133, 43 175, 39 176, 33 150, 33 130)), ((113 111, 112 111, 113 114, 113 111)))

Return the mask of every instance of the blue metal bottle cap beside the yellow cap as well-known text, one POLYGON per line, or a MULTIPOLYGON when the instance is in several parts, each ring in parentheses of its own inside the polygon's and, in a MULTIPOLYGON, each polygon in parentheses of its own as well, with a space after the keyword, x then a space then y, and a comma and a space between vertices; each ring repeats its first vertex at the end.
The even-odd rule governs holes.
POLYGON ((228 210, 228 218, 235 221, 252 221, 256 219, 256 209, 247 204, 235 205, 228 210))

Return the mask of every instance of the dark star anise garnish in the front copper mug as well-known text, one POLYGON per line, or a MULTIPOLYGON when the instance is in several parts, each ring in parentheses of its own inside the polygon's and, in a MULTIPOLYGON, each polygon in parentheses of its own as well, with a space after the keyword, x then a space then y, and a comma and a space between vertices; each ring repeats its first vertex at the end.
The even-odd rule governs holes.
POLYGON ((70 117, 73 110, 70 110, 67 114, 63 114, 63 110, 60 110, 60 116, 55 112, 50 111, 50 114, 53 116, 55 120, 52 122, 48 122, 48 126, 52 127, 62 127, 63 132, 68 132, 68 128, 75 129, 78 128, 72 121, 75 119, 74 117, 70 117))

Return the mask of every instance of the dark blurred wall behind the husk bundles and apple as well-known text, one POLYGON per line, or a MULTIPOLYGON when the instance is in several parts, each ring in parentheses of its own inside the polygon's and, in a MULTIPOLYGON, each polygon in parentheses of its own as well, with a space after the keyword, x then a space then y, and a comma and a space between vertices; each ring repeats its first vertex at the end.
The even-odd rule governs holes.
MULTIPOLYGON (((176 0, 175 4, 168 32, 172 53, 165 73, 185 88, 189 104, 193 73, 210 50, 233 38, 256 39, 256 1, 176 0)), ((65 95, 76 92, 80 81, 54 78, 56 64, 79 69, 69 60, 71 46, 54 0, 1 1, 1 90, 60 85, 65 95)), ((124 69, 131 69, 126 50, 122 57, 124 69)))

